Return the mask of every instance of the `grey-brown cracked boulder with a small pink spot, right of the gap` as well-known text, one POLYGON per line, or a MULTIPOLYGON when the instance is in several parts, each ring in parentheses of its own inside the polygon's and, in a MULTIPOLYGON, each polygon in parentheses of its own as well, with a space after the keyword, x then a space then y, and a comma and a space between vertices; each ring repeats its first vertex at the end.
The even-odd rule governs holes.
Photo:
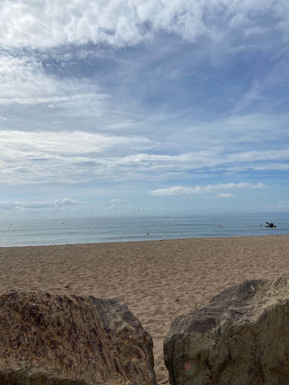
POLYGON ((245 281, 178 316, 164 355, 171 385, 288 385, 289 279, 245 281))

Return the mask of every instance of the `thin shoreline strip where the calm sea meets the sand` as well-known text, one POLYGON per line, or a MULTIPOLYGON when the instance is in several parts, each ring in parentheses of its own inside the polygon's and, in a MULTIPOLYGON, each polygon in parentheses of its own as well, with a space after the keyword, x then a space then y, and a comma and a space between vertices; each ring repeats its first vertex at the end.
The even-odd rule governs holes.
POLYGON ((49 246, 76 246, 76 245, 93 245, 103 243, 135 243, 135 242, 160 242, 160 241, 177 241, 182 239, 217 239, 217 238, 259 238, 259 237, 289 237, 289 234, 260 234, 260 235, 223 235, 223 236, 212 236, 212 237, 193 237, 193 238, 163 238, 163 239, 146 239, 143 241, 103 241, 103 242, 91 242, 91 243, 59 243, 59 244, 35 244, 35 245, 24 245, 24 246, 0 246, 1 249, 7 248, 21 248, 21 247, 49 247, 49 246))

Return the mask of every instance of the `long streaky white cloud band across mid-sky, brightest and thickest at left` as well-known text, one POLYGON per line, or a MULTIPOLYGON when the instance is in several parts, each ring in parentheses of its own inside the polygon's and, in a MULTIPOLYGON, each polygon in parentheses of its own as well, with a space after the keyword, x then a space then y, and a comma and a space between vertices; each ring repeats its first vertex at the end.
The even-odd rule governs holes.
MULTIPOLYGON (((215 170, 239 172, 246 169, 288 170, 287 163, 262 162, 269 158, 289 159, 289 149, 251 151, 223 154, 220 149, 159 155, 136 153, 113 156, 138 148, 153 149, 157 142, 139 136, 116 136, 84 131, 0 131, 0 183, 10 185, 35 183, 76 183, 96 179, 107 181, 180 179, 189 177, 192 170, 207 167, 215 170), (64 146, 65 143, 65 146, 64 146), (102 154, 100 157, 98 154, 102 154), (252 162, 258 162, 254 164, 252 162), (240 163, 233 167, 224 164, 240 163), (248 162, 250 162, 248 164, 248 162)), ((201 174, 206 177, 206 173, 201 174)), ((185 187, 173 187, 185 193, 185 187)), ((224 187, 225 188, 225 187, 224 187)), ((195 187, 193 193, 202 192, 195 187)), ((186 194, 192 190, 188 189, 186 194)), ((167 191, 166 194, 170 194, 167 191)), ((175 192, 174 192, 175 194, 175 192)))

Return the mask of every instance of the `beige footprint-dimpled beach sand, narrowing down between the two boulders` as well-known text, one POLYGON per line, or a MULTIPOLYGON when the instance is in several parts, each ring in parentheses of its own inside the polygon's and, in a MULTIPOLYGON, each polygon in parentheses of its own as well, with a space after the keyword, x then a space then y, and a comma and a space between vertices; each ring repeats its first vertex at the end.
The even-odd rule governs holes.
POLYGON ((0 288, 125 303, 153 337, 161 383, 168 380, 162 349, 171 321, 242 280, 289 276, 288 246, 285 235, 0 248, 0 288))

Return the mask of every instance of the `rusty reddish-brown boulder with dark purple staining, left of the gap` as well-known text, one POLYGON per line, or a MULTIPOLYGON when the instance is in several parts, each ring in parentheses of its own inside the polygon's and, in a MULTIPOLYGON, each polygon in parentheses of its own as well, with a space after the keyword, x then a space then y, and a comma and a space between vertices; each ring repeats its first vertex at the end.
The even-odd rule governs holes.
POLYGON ((0 384, 156 385, 153 341, 115 300, 0 295, 0 384))

